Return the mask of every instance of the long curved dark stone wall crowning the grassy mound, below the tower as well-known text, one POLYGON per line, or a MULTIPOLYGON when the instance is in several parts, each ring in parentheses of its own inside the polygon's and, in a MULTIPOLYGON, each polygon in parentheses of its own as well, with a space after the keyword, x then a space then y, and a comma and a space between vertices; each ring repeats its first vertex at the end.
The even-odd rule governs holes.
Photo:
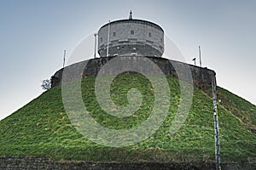
MULTIPOLYGON (((125 60, 125 62, 119 64, 119 67, 125 67, 125 64, 127 64, 127 62, 129 62, 131 65, 137 65, 138 67, 140 67, 141 65, 138 65, 137 63, 140 59, 143 59, 142 57, 137 56, 118 57, 125 60)), ((97 73, 102 69, 102 65, 105 65, 110 59, 113 58, 114 57, 103 57, 97 59, 90 59, 73 65, 68 65, 67 67, 65 67, 65 69, 69 70, 68 74, 65 75, 65 80, 73 81, 75 79, 78 79, 79 77, 96 77, 97 73), (82 73, 80 71, 82 71, 82 73)), ((177 71, 175 70, 175 68, 178 68, 178 70, 182 72, 182 74, 179 74, 179 79, 185 82, 193 83, 195 87, 201 88, 202 90, 204 90, 205 87, 211 86, 212 76, 215 81, 215 71, 209 70, 207 68, 201 68, 195 65, 188 65, 186 63, 164 58, 148 57, 148 59, 151 59, 156 65, 158 65, 161 71, 166 75, 166 77, 178 77, 177 71), (183 70, 191 71, 192 81, 186 78, 189 73, 183 70)), ((140 69, 143 70, 145 68, 140 69)), ((56 71, 55 75, 51 77, 52 88, 61 84, 62 73, 63 69, 56 71)), ((148 70, 148 74, 154 75, 154 71, 148 70)))

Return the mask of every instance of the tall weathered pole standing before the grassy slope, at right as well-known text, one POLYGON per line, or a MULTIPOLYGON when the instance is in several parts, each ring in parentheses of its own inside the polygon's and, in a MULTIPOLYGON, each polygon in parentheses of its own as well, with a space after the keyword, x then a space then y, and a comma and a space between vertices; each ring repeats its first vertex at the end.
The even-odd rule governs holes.
POLYGON ((215 159, 216 159, 216 170, 221 170, 220 166, 220 145, 218 136, 218 111, 216 101, 216 79, 212 74, 212 100, 213 100, 213 122, 214 122, 214 136, 215 136, 215 159))

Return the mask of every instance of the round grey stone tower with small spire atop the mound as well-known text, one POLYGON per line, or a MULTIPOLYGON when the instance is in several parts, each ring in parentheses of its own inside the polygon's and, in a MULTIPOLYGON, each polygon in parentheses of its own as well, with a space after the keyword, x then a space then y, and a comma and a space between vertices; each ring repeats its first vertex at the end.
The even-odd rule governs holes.
POLYGON ((163 29, 147 20, 115 20, 98 31, 98 54, 106 56, 161 57, 164 53, 163 29))

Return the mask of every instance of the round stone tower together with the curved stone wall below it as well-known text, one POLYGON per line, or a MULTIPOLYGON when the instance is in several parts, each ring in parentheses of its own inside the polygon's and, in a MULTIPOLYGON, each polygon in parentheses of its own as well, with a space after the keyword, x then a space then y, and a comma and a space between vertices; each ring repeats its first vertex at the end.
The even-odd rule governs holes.
MULTIPOLYGON (((207 68, 201 68, 196 65, 188 65, 179 61, 165 59, 162 57, 165 51, 164 31, 163 29, 147 20, 135 20, 130 13, 127 20, 114 20, 102 26, 97 32, 98 54, 100 58, 88 59, 67 65, 59 71, 56 71, 51 77, 51 86, 55 87, 62 82, 63 71, 69 71, 65 74, 65 80, 73 81, 85 77, 97 77, 102 66, 109 60, 120 58, 124 62, 119 63, 119 68, 126 68, 127 63, 135 65, 139 70, 147 69, 140 65, 139 61, 151 59, 158 65, 166 77, 178 77, 179 71, 191 71, 193 80, 188 80, 187 72, 179 77, 183 81, 193 83, 201 88, 203 85, 212 84, 212 75, 215 78, 215 72, 207 68), (143 57, 142 57, 143 56, 143 57), (84 68, 85 67, 85 68, 84 68)), ((167 48, 167 47, 166 47, 167 48)), ((84 56, 85 57, 85 56, 84 56)), ((149 68, 149 67, 148 67, 149 68)), ((111 70, 106 74, 115 74, 119 70, 111 70)), ((147 70, 148 75, 155 75, 154 69, 147 70)))

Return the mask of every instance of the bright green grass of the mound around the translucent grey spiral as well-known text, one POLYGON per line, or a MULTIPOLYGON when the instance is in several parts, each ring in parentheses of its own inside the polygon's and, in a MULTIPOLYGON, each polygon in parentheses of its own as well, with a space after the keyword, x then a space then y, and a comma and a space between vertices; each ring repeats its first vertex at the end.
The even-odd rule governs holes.
MULTIPOLYGON (((76 131, 69 122, 61 100, 61 87, 51 88, 37 99, 0 122, 0 156, 39 155, 56 160, 84 161, 214 161, 212 99, 195 88, 189 116, 177 133, 170 136, 177 104, 179 83, 167 78, 172 94, 168 115, 161 127, 141 143, 122 148, 96 144, 76 131)), ((138 126, 152 110, 154 90, 141 75, 121 75, 111 86, 116 105, 127 105, 127 91, 137 88, 143 103, 136 114, 117 118, 110 116, 96 102, 95 78, 82 81, 84 105, 102 126, 122 129, 138 126)), ((256 106, 218 88, 218 119, 221 159, 224 162, 247 162, 256 157, 256 106)))

